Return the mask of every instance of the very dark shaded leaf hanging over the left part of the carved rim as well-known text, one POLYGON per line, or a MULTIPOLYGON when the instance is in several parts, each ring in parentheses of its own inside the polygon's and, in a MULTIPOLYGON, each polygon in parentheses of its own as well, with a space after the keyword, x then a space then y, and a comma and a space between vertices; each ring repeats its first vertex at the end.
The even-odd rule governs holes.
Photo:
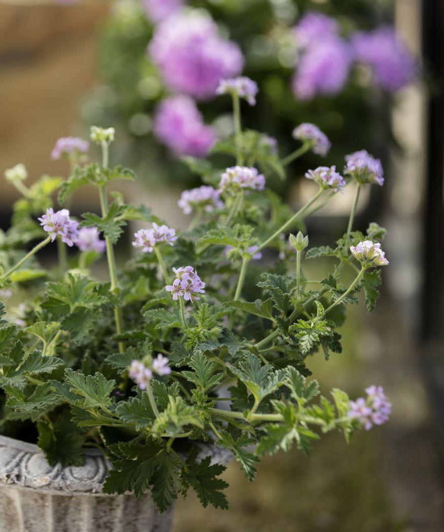
POLYGON ((60 463, 62 467, 83 465, 82 445, 85 438, 70 419, 60 416, 50 425, 47 421, 37 423, 37 445, 44 451, 50 465, 60 463))

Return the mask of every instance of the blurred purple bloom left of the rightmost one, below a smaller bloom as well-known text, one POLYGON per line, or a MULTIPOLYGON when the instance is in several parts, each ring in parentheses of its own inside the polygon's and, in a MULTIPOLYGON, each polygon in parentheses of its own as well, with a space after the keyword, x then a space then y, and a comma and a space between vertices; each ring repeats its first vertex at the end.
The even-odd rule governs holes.
POLYGON ((293 78, 293 92, 303 100, 317 94, 334 95, 349 76, 352 49, 339 37, 318 40, 301 55, 293 78))

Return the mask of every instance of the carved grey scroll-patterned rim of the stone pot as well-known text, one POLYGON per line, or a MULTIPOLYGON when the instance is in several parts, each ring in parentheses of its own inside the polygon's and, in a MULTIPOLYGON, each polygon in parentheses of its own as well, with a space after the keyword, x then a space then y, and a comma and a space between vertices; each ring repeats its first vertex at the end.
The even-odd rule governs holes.
MULTIPOLYGON (((199 458, 226 465, 232 453, 213 444, 199 444, 199 458)), ((111 464, 98 449, 84 448, 85 463, 79 467, 50 465, 43 451, 32 443, 0 435, 0 485, 50 495, 117 497, 102 492, 111 464)))

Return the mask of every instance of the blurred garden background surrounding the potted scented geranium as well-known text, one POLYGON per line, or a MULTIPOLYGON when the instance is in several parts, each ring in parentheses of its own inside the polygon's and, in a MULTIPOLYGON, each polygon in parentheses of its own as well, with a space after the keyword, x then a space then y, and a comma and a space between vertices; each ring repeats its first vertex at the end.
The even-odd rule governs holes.
MULTIPOLYGON (((362 148, 383 161, 385 185, 362 197, 357 217, 358 228, 388 229, 381 300, 373 314, 354 309, 343 354, 308 365, 322 387, 352 396, 383 384, 390 422, 348 448, 331 435, 309 459, 267 459, 251 485, 230 464, 230 511, 190 495, 174 532, 444 530, 443 36, 442 0, 0 0, 2 171, 24 163, 30 181, 67 176, 67 161, 51 160, 55 140, 114 126, 112 162, 139 177, 122 192, 181 227, 177 198, 198 179, 180 156, 230 134, 229 98, 212 83, 241 71, 260 86, 243 121, 275 137, 282 156, 296 147, 292 129, 313 122, 333 142, 327 164, 341 168, 362 148), (314 37, 313 12, 330 17, 314 37), (177 115, 166 132, 165 109, 177 115)), ((304 171, 321 163, 307 155, 287 181, 268 182, 297 208, 311 194, 304 171)), ((17 197, 0 181, 2 228, 17 197)), ((351 201, 308 221, 312 244, 342 234, 351 201)), ((77 194, 71 209, 98 209, 98 199, 77 194)))

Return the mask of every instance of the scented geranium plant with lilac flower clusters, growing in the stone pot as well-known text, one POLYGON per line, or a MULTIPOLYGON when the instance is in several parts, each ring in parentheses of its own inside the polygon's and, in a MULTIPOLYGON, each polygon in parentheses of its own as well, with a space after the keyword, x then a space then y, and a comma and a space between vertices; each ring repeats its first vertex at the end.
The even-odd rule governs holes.
POLYGON ((112 128, 91 131, 101 163, 85 160, 84 141, 58 142, 53 155, 68 157, 67 180, 45 176, 28 188, 22 165, 6 171, 23 197, 1 238, 0 428, 35 433, 51 464, 80 465, 84 447, 100 448, 112 462, 104 491, 150 491, 160 511, 190 487, 204 506, 227 508, 224 467, 198 458, 202 448, 232 453, 252 480, 264 455, 292 446, 308 454, 328 431, 349 440, 390 414, 381 387, 354 401, 339 389, 320 395, 305 365, 314 353, 341 352, 337 329, 361 292, 374 309, 388 264, 385 231, 372 223, 362 234, 353 218, 361 187, 383 184, 380 162, 361 151, 343 171, 309 169, 318 192, 293 213, 267 189, 267 175, 283 176, 309 150, 326 156, 329 140, 302 124, 295 152, 281 160, 272 139, 241 128, 241 100, 254 104, 254 82, 225 80, 218 92, 232 98, 235 134, 213 151, 233 155, 233 166, 185 161, 205 183, 179 200, 194 214, 188 229, 168 227, 108 189, 135 178, 109 168, 112 128), (66 204, 84 186, 96 190, 101 213, 75 220, 66 204), (341 193, 355 194, 344 235, 335 246, 309 247, 297 229, 341 193), (117 269, 114 246, 131 220, 142 228, 117 269), (59 267, 45 270, 38 252, 55 243, 59 267), (67 255, 68 247, 77 253, 67 255), (91 273, 102 254, 104 280, 91 273), (334 264, 329 275, 308 279, 306 265, 323 257, 334 264), (10 303, 19 298, 20 307, 10 303))

